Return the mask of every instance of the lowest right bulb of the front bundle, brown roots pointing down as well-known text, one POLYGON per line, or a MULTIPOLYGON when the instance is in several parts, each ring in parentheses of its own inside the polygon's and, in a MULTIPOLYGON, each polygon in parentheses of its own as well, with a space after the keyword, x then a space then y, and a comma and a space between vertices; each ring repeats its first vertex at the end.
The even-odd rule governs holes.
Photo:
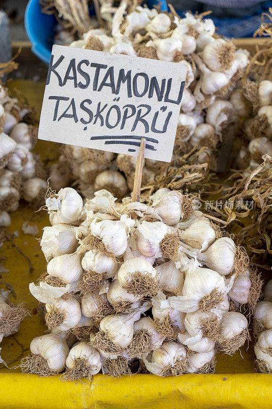
POLYGON ((248 320, 240 312, 229 311, 222 315, 219 347, 232 355, 248 338, 248 320))

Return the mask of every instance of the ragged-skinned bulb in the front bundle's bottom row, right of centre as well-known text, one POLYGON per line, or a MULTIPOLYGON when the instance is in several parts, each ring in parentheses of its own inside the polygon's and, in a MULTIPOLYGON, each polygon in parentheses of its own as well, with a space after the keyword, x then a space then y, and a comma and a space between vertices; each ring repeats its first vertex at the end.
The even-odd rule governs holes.
POLYGON ((169 341, 164 342, 161 348, 153 351, 151 362, 145 357, 143 357, 143 362, 149 372, 154 375, 164 376, 164 369, 175 368, 176 362, 185 361, 185 358, 186 349, 174 341, 169 341))

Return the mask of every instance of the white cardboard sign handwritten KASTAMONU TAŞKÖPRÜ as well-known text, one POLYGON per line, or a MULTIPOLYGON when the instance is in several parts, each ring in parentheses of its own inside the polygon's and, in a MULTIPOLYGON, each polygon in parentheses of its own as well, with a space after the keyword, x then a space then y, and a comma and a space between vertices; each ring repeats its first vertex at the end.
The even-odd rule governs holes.
POLYGON ((186 65, 53 46, 39 139, 170 162, 186 65))

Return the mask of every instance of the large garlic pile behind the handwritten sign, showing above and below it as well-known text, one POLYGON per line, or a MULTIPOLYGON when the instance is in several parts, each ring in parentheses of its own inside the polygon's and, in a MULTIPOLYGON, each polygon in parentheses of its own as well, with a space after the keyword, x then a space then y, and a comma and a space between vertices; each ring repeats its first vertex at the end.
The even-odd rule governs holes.
MULTIPOLYGON (((210 18, 202 19, 189 12, 180 18, 156 9, 133 7, 131 3, 120 3, 113 15, 111 30, 103 27, 91 29, 81 39, 73 41, 70 47, 185 64, 187 77, 172 166, 180 166, 181 154, 195 146, 205 146, 207 149, 200 154, 198 161, 202 164, 209 159, 212 170, 216 170, 215 148, 224 140, 227 127, 238 121, 241 113, 241 109, 237 112, 236 94, 232 96, 232 93, 249 63, 249 53, 236 50, 231 40, 218 38, 210 18)), ((52 165, 51 186, 59 190, 77 180, 80 191, 90 198, 93 189, 89 189, 88 185, 96 184, 98 173, 119 170, 121 175, 105 173, 101 176, 105 189, 107 184, 111 184, 111 179, 116 179, 125 190, 126 184, 121 178, 125 175, 128 188, 132 190, 136 161, 132 156, 126 156, 129 159, 124 160, 125 155, 118 155, 116 161, 114 157, 109 152, 66 146, 62 149, 59 163, 52 165)), ((153 184, 163 170, 162 163, 146 160, 143 186, 153 184)), ((104 188, 100 181, 97 185, 104 188)), ((111 193, 116 196, 114 191, 111 193)))

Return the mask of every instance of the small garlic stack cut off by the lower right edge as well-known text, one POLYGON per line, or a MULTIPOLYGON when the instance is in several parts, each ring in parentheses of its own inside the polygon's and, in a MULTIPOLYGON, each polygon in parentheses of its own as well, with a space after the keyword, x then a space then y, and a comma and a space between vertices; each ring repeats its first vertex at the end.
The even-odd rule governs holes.
POLYGON ((272 373, 272 280, 264 288, 263 300, 257 303, 253 312, 255 335, 254 347, 259 371, 272 373))

